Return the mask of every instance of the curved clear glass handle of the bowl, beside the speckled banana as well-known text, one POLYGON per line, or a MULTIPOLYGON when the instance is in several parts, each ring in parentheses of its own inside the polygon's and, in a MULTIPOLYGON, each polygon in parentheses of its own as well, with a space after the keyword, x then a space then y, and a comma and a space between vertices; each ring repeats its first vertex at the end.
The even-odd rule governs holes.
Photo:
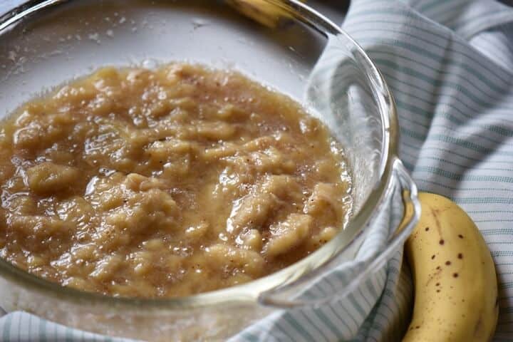
MULTIPOLYGON (((343 284, 340 289, 326 294, 326 296, 322 296, 321 298, 316 296, 312 299, 309 298, 309 296, 299 294, 304 294, 302 291, 315 280, 313 280, 312 277, 307 277, 306 281, 300 278, 289 284, 262 292, 258 297, 259 303, 279 309, 321 306, 328 302, 345 298, 360 286, 363 281, 366 281, 369 276, 372 276, 376 271, 381 269, 392 257, 392 254, 402 248, 402 245, 412 232, 413 227, 420 217, 420 203, 417 197, 417 187, 408 174, 408 170, 405 169, 403 163, 398 158, 395 158, 393 163, 393 178, 388 190, 388 204, 391 210, 394 209, 394 206, 397 206, 397 202, 394 202, 394 200, 398 199, 394 197, 402 197, 403 209, 401 210, 398 224, 390 228, 393 230, 390 230, 391 233, 385 248, 367 257, 363 261, 358 261, 358 271, 345 277, 348 279, 346 284, 343 284)), ((381 209, 385 208, 382 207, 381 209)), ((376 219, 374 217, 368 224, 376 224, 377 222, 375 221, 376 219)), ((337 264, 341 264, 341 262, 348 261, 347 256, 345 257, 346 259, 342 257, 343 254, 345 253, 340 253, 332 261, 329 261, 328 265, 322 267, 324 272, 321 273, 321 277, 323 274, 326 274, 326 269, 331 269, 331 267, 335 267, 337 264)))

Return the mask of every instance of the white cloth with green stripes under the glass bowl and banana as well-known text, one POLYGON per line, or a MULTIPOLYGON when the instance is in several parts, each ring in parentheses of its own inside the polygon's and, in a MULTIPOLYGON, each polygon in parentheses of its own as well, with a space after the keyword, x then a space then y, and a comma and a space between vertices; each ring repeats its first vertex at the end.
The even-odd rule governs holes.
MULTIPOLYGON (((492 0, 353 0, 343 28, 377 63, 395 96, 400 157, 421 190, 451 197, 480 227, 499 274, 495 341, 513 341, 513 9, 492 0)), ((336 78, 328 48, 318 68, 336 78)), ((343 79, 343 78, 342 78, 343 79)), ((336 88, 336 87, 333 87, 336 88)), ((343 286, 383 248, 398 215, 301 296, 343 286)), ((412 283, 398 250, 350 296, 277 311, 232 341, 398 341, 412 283)), ((0 341, 128 341, 95 336, 24 313, 0 318, 0 341)))

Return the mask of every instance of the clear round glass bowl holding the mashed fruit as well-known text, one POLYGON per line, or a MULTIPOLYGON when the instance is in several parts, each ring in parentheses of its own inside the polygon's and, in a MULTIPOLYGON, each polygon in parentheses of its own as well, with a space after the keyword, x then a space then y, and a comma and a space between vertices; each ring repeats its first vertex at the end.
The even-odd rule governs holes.
POLYGON ((0 306, 112 336, 224 339, 274 310, 343 298, 401 247, 420 207, 415 185, 396 157, 398 124, 385 81, 366 53, 316 11, 295 0, 260 2, 278 9, 261 18, 267 26, 237 11, 237 0, 28 1, 0 18, 1 115, 41 90, 105 65, 152 67, 185 60, 237 68, 309 106, 341 141, 354 182, 347 227, 275 274, 179 299, 90 294, 0 260, 0 306), (323 66, 333 56, 336 68, 326 73, 323 66), (383 214, 390 212, 402 224, 383 214), (311 281, 353 260, 378 224, 397 228, 386 248, 330 296, 298 299, 311 281))

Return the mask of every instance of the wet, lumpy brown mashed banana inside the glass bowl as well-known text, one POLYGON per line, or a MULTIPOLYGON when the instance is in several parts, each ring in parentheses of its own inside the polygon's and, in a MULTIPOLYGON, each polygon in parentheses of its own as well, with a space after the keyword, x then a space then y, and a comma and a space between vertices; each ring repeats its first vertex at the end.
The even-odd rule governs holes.
POLYGON ((351 212, 328 130, 232 71, 103 68, 0 126, 0 257, 86 291, 242 284, 326 243, 351 212))

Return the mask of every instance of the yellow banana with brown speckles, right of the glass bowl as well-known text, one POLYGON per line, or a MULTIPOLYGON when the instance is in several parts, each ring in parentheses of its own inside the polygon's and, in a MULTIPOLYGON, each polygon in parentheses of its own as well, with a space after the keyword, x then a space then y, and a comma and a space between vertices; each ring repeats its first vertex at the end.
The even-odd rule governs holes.
POLYGON ((491 341, 499 306, 487 244, 450 199, 429 193, 419 199, 422 214, 405 244, 415 304, 403 342, 491 341))

